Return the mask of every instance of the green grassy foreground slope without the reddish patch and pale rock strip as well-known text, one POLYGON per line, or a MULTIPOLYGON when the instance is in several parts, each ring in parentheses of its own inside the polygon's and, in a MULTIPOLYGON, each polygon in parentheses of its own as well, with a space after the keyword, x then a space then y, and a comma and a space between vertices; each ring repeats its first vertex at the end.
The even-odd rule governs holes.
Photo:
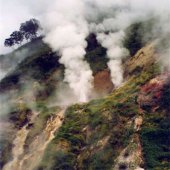
MULTIPOLYGON (((129 122, 143 115, 136 101, 140 87, 160 73, 153 51, 147 47, 144 52, 143 56, 139 52, 137 60, 125 63, 129 65, 128 80, 110 96, 67 109, 64 124, 46 149, 39 170, 113 168, 116 157, 134 134, 133 123, 129 122)), ((144 122, 140 137, 145 168, 168 169, 168 155, 163 149, 168 150, 169 143, 162 142, 169 135, 165 111, 144 111, 144 122)))

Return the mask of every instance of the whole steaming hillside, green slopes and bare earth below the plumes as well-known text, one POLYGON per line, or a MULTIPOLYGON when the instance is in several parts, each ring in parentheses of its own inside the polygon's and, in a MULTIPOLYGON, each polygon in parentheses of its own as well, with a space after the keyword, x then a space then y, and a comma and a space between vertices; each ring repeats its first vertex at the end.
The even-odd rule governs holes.
POLYGON ((55 102, 49 105, 63 82, 64 67, 48 46, 38 48, 2 79, 1 94, 10 90, 14 100, 8 115, 15 132, 9 137, 5 131, 1 139, 1 166, 16 158, 4 169, 16 169, 18 163, 21 170, 169 169, 170 75, 160 69, 156 46, 146 45, 124 61, 125 82, 114 89, 105 49, 93 35, 88 44, 86 60, 99 99, 66 110, 55 102), (35 94, 29 96, 32 88, 35 94), (12 141, 18 133, 24 136, 17 139, 17 148, 12 141))

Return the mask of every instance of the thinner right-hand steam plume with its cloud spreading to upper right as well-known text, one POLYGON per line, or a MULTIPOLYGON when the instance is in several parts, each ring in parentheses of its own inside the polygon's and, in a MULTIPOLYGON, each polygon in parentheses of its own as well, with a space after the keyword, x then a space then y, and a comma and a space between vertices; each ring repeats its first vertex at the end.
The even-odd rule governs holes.
MULTIPOLYGON (((137 22, 156 19, 152 30, 145 30, 142 35, 143 41, 148 42, 148 37, 162 38, 170 32, 170 1, 164 0, 160 3, 146 0, 86 0, 90 4, 91 11, 88 12, 91 32, 96 32, 98 41, 107 49, 109 58, 108 67, 111 71, 112 82, 119 86, 123 81, 123 70, 121 68, 122 58, 128 55, 127 49, 123 47, 125 30, 137 22), (100 19, 98 19, 98 18, 100 19)), ((169 58, 164 53, 163 60, 169 58)))

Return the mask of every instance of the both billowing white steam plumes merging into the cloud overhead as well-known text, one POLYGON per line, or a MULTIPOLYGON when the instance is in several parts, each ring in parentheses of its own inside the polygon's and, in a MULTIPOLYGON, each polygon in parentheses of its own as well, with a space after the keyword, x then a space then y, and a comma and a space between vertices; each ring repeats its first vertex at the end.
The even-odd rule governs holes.
MULTIPOLYGON (((6 2, 9 4, 9 0, 6 2)), ((25 18, 34 16, 40 20, 44 29, 44 41, 61 55, 60 63, 65 66, 65 81, 69 83, 79 101, 87 101, 93 87, 92 71, 84 60, 87 46, 85 38, 90 32, 96 33, 98 41, 107 48, 112 82, 115 86, 119 86, 123 81, 122 58, 128 55, 122 45, 126 28, 133 23, 156 18, 154 29, 146 30, 144 39, 148 36, 166 37, 170 30, 169 0, 51 0, 49 2, 13 0, 14 2, 21 4, 18 5, 18 11, 20 8, 26 9, 29 15, 25 18)), ((15 6, 14 13, 18 13, 16 9, 15 6)), ((10 15, 8 13, 7 10, 7 16, 10 15)), ((18 21, 17 19, 16 24, 18 21)), ((7 28, 9 25, 3 27, 7 28)), ((163 53, 162 56, 166 56, 162 57, 163 60, 169 59, 168 53, 163 53)))

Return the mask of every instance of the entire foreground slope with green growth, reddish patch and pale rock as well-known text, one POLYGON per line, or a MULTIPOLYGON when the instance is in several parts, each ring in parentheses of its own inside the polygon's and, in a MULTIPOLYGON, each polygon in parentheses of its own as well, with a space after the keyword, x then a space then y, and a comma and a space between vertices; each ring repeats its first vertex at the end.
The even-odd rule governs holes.
POLYGON ((38 170, 168 170, 169 74, 160 72, 155 57, 153 44, 144 47, 125 63, 127 81, 121 87, 103 99, 69 107, 38 170), (157 79, 162 85, 155 106, 152 82, 157 79), (150 97, 149 109, 142 95, 150 97))

